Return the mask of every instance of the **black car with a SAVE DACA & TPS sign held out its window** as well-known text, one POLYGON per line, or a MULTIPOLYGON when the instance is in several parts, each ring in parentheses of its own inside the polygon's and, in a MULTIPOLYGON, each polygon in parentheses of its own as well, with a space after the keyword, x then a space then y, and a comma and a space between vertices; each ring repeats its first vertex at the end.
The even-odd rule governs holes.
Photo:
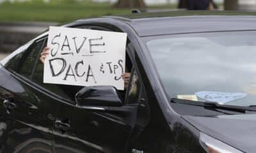
POLYGON ((256 17, 170 11, 63 26, 127 33, 129 86, 44 84, 41 34, 1 61, 0 152, 255 152, 256 17))

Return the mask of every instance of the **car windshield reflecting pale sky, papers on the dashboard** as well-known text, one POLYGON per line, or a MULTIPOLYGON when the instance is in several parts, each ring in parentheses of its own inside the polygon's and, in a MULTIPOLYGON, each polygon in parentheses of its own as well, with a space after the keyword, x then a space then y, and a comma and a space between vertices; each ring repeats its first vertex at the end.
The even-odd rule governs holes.
POLYGON ((256 31, 143 38, 169 98, 256 105, 256 31))

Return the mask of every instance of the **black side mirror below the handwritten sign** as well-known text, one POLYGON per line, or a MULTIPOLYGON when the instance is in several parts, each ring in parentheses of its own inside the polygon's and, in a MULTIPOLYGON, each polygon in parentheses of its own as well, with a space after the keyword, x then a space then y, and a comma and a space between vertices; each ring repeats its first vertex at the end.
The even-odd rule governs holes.
POLYGON ((84 87, 76 94, 79 106, 122 106, 122 97, 113 86, 84 87))

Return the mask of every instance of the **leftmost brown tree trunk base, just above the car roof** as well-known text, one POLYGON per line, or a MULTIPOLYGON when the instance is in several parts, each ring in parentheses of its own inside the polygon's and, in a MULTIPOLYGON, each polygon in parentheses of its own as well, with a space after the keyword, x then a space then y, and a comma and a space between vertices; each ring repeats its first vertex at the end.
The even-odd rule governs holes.
POLYGON ((146 8, 143 0, 118 0, 116 8, 146 8))

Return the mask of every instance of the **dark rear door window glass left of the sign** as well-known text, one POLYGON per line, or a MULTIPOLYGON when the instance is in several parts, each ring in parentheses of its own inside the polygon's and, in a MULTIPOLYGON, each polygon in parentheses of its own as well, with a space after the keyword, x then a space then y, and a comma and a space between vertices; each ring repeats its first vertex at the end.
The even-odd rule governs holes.
POLYGON ((26 57, 22 57, 22 61, 20 62, 21 68, 19 71, 20 75, 24 77, 30 78, 33 68, 35 68, 35 61, 38 57, 38 51, 42 49, 42 45, 44 40, 36 41, 31 47, 26 50, 24 54, 26 57))

